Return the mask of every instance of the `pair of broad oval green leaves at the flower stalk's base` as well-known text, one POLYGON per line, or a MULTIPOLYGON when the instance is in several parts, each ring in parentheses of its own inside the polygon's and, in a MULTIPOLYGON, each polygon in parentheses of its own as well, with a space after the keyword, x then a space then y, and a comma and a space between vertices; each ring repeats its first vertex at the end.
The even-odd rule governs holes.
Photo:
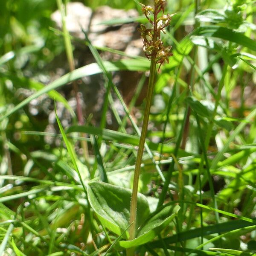
MULTIPOLYGON (((123 239, 129 239, 125 231, 129 227, 131 189, 104 182, 90 182, 87 186, 90 206, 102 224, 123 239)), ((118 248, 130 248, 145 244, 154 239, 174 218, 180 207, 167 205, 150 212, 148 198, 138 193, 137 227, 135 238, 119 241, 118 248)))

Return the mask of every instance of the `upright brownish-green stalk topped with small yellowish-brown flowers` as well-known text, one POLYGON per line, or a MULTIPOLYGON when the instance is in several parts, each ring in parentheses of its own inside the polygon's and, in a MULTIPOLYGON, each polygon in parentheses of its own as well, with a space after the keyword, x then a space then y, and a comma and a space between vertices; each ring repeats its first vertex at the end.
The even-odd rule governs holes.
MULTIPOLYGON (((139 149, 135 164, 134 170, 134 183, 133 183, 133 191, 131 196, 131 208, 130 208, 130 240, 135 238, 136 233, 136 213, 137 213, 137 192, 138 192, 138 183, 139 183, 139 175, 140 175, 140 165, 144 151, 145 138, 147 134, 148 128, 148 119, 150 113, 151 99, 154 92, 154 80, 156 74, 156 65, 160 64, 158 70, 164 62, 169 63, 169 57, 172 56, 171 46, 164 47, 163 41, 160 38, 160 33, 165 33, 165 28, 168 26, 172 20, 172 16, 170 14, 164 15, 164 5, 166 0, 155 0, 154 8, 151 6, 142 6, 142 12, 145 17, 148 19, 151 27, 147 28, 144 25, 140 25, 139 31, 141 32, 141 37, 143 39, 144 44, 144 52, 146 57, 151 61, 150 65, 150 75, 148 81, 148 93, 146 96, 146 106, 145 113, 143 118, 142 132, 140 136, 139 149), (159 13, 162 12, 162 16, 158 17, 159 13), (152 15, 154 18, 152 19, 152 15)), ((133 251, 129 250, 128 255, 133 255, 133 251)))

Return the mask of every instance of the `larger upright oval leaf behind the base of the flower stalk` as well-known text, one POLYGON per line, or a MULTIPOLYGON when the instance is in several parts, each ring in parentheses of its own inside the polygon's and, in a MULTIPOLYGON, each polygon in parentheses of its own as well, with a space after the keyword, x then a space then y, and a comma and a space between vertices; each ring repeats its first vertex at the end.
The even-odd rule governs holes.
MULTIPOLYGON (((129 226, 131 189, 97 181, 88 184, 87 195, 91 207, 102 224, 120 236, 129 226)), ((149 214, 147 198, 138 193, 137 228, 143 224, 149 214)), ((128 231, 122 236, 128 239, 128 231)))

